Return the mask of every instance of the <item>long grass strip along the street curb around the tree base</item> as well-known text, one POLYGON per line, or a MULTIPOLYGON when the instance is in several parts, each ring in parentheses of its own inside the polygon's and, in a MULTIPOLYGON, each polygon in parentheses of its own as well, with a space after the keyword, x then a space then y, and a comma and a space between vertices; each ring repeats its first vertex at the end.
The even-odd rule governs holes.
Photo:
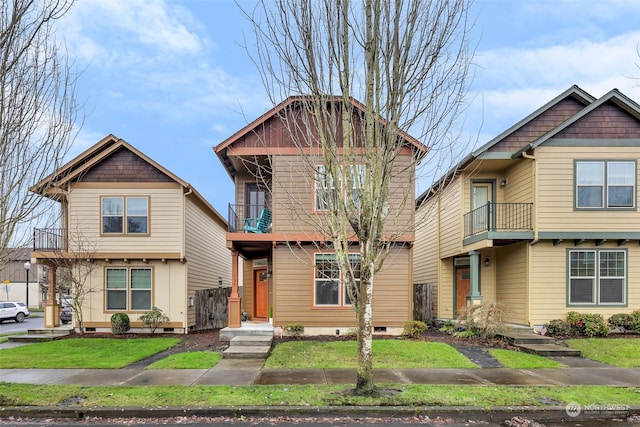
POLYGON ((72 399, 83 407, 162 406, 564 406, 640 405, 636 387, 393 384, 387 397, 354 397, 353 385, 103 386, 0 383, 3 406, 58 406, 72 399))

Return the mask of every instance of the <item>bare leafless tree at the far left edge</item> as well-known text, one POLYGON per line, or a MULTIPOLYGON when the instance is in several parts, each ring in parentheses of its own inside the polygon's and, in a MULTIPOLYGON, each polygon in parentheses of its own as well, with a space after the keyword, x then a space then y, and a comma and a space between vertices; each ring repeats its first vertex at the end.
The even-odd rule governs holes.
POLYGON ((0 264, 9 245, 26 246, 25 222, 48 203, 28 186, 60 165, 74 136, 76 74, 54 28, 72 4, 0 3, 0 264))

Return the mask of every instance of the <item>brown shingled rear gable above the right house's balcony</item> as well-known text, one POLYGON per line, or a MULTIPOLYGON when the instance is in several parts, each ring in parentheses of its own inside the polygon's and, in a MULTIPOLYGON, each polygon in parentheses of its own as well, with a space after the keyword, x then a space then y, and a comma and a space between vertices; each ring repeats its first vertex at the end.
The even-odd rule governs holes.
POLYGON ((540 138, 560 123, 573 117, 584 108, 584 104, 573 98, 567 98, 558 102, 553 107, 544 111, 535 119, 526 123, 520 129, 506 136, 502 141, 491 147, 489 152, 513 152, 518 151, 530 142, 540 138))

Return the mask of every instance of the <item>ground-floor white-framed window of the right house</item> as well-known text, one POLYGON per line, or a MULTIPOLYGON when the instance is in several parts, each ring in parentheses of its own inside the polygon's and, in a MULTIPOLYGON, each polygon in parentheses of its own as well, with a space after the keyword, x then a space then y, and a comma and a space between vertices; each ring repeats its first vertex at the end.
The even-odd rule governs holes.
POLYGON ((569 305, 626 304, 626 251, 569 251, 569 305))

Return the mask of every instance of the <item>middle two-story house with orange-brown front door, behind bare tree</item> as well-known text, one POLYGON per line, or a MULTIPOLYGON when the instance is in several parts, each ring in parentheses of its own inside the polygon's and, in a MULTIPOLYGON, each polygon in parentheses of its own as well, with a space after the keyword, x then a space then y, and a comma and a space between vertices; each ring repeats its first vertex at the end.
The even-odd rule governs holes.
MULTIPOLYGON (((304 97, 286 99, 214 148, 235 185, 227 233, 234 278, 238 277, 235 261, 238 257, 244 260, 244 295, 241 301, 234 300, 232 292, 230 327, 240 326, 240 310, 256 322, 272 317, 276 327, 301 324, 307 335, 343 334, 356 325, 331 238, 318 226, 327 215, 324 196, 341 197, 348 189, 320 176, 324 168, 321 156, 309 161, 318 154, 312 137, 305 136, 304 143, 293 142, 292 130, 314 134, 309 125, 313 120, 303 103, 304 97), (234 304, 241 306, 234 308, 234 304)), ((363 106, 352 103, 354 114, 362 114, 363 106)), ((413 189, 414 174, 403 165, 410 164, 416 150, 426 149, 408 135, 400 138, 404 148, 392 182, 395 193, 413 189)), ((341 147, 341 141, 337 146, 341 147)), ((355 169, 351 173, 362 172, 355 169)), ((393 189, 391 193, 395 194, 393 189)), ((414 200, 413 190, 408 197, 414 200)), ((408 203, 395 219, 412 224, 413 213, 408 203)), ((379 333, 397 332, 411 320, 412 243, 411 229, 396 240, 375 276, 373 325, 379 333)), ((356 270, 360 263, 357 251, 354 245, 356 270)))

